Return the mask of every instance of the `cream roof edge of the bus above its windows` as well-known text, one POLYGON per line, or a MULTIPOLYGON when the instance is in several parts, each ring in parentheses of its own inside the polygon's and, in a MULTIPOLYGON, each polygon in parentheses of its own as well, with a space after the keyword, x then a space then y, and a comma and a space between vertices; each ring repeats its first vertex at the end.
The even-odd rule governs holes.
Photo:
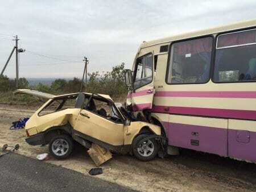
POLYGON ((246 20, 243 22, 237 22, 237 23, 228 24, 225 26, 208 28, 206 30, 191 31, 191 32, 187 32, 184 34, 164 37, 164 38, 156 39, 156 40, 152 40, 152 41, 143 41, 143 43, 141 44, 141 48, 151 47, 151 46, 157 45, 157 44, 170 43, 171 41, 176 41, 176 40, 189 39, 192 37, 216 34, 216 33, 220 33, 220 32, 238 30, 241 28, 254 27, 254 26, 256 26, 256 19, 246 20))

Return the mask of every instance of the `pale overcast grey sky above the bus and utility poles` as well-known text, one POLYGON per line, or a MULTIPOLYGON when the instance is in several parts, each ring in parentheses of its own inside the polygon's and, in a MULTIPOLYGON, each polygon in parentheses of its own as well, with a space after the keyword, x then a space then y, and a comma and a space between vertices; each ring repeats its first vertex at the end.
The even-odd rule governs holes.
MULTIPOLYGON (((18 35, 19 76, 70 78, 130 69, 142 41, 256 19, 255 0, 3 1, 0 6, 0 70, 18 35)), ((15 77, 15 54, 5 70, 15 77)))

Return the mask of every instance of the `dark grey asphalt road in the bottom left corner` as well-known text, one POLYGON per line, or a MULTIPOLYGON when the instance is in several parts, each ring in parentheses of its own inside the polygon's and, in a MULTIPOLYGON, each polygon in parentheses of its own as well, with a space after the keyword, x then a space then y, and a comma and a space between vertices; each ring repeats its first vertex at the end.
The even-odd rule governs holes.
MULTIPOLYGON (((104 174, 104 170, 103 173, 104 174)), ((0 191, 132 191, 16 154, 0 157, 0 191)))

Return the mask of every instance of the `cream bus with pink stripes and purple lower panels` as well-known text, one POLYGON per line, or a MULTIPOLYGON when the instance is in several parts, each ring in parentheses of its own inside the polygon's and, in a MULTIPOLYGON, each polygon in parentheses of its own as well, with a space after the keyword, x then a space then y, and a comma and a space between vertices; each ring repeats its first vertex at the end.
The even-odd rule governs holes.
POLYGON ((256 162, 256 20, 144 41, 126 83, 170 149, 256 162))

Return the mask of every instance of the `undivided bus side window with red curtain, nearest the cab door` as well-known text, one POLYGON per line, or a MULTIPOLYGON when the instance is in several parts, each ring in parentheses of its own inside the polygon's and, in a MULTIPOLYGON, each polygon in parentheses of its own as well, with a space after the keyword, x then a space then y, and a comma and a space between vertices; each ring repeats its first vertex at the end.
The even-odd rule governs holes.
POLYGON ((168 84, 197 84, 209 80, 212 37, 171 44, 168 84))

